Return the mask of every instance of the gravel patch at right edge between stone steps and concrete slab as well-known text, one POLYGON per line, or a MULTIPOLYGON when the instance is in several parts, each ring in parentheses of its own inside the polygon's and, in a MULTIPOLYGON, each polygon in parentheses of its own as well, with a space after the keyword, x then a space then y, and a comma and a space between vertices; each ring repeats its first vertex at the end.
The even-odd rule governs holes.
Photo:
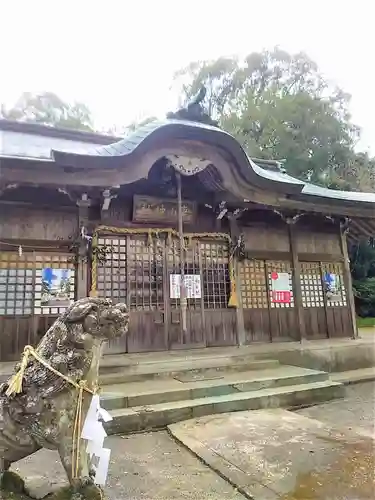
POLYGON ((375 438, 375 383, 349 385, 344 399, 305 408, 297 413, 375 438))

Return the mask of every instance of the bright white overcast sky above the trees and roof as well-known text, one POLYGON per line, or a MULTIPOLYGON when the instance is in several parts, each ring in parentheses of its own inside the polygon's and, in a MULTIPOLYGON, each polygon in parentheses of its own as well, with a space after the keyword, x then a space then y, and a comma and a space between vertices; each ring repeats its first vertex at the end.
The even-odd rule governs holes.
POLYGON ((359 148, 375 154, 374 17, 369 0, 1 0, 0 102, 48 90, 126 126, 176 109, 189 62, 279 45, 352 95, 359 148))

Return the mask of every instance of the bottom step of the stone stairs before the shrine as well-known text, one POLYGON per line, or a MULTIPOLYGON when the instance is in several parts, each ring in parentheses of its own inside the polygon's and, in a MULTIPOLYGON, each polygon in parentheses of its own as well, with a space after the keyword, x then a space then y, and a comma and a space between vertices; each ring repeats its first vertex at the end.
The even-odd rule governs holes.
POLYGON ((343 397, 343 386, 329 380, 259 391, 238 392, 149 406, 112 410, 113 420, 106 424, 109 434, 160 429, 182 420, 262 408, 299 408, 343 397))

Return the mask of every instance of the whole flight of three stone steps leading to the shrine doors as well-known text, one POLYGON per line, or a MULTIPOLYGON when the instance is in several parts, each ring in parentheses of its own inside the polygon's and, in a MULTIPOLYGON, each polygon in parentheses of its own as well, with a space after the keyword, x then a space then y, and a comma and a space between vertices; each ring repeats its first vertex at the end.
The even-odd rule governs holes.
POLYGON ((105 357, 101 404, 108 433, 162 429, 228 411, 297 408, 343 396, 319 370, 257 358, 250 348, 105 357))

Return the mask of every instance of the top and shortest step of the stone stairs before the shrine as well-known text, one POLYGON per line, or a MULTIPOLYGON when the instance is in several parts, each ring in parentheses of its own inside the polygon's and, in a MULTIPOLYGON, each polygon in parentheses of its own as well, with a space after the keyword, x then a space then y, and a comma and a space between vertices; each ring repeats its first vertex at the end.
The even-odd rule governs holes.
POLYGON ((217 378, 223 372, 266 370, 280 366, 275 359, 255 360, 250 356, 191 357, 142 362, 100 369, 100 385, 113 385, 150 379, 187 377, 191 380, 217 378))

